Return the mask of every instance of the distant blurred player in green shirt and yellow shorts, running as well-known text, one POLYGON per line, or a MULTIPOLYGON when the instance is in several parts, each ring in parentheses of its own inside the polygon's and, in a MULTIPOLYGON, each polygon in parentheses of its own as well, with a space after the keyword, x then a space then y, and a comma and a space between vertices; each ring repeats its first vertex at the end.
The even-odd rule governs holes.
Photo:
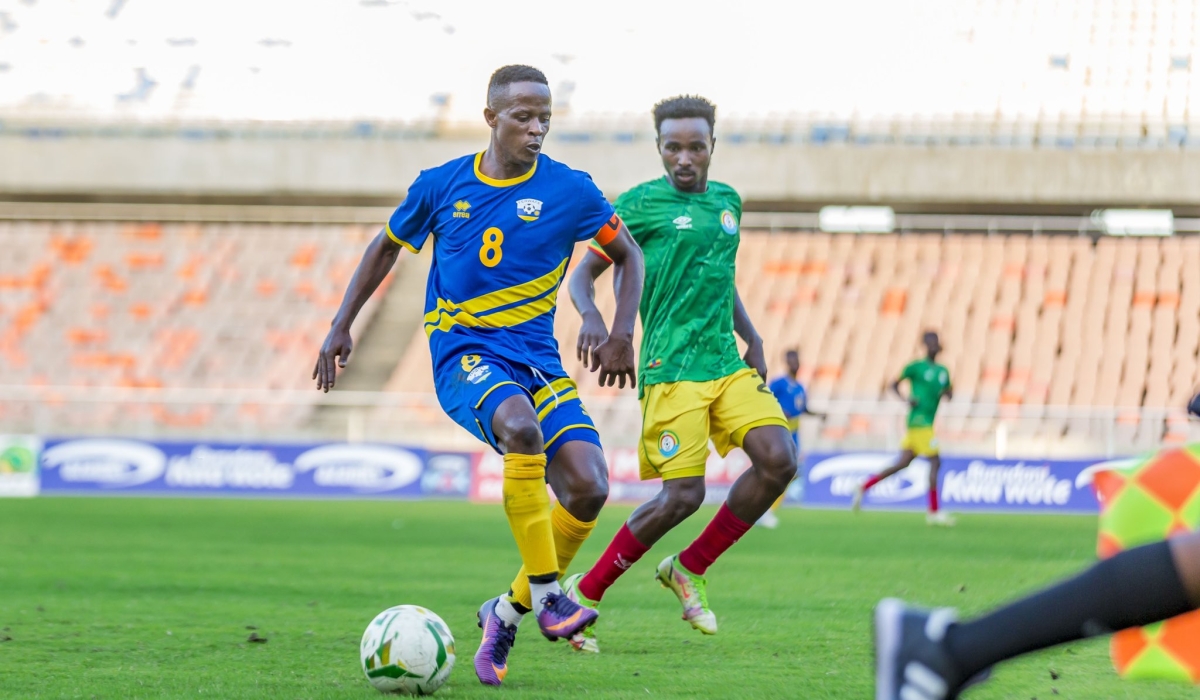
POLYGON ((940 511, 937 503, 937 472, 942 467, 942 457, 938 455, 937 436, 934 433, 934 418, 937 415, 942 396, 954 397, 954 388, 950 385, 950 371, 946 365, 937 364, 937 354, 942 352, 937 334, 931 330, 925 331, 922 342, 925 345, 925 358, 908 363, 900 372, 900 378, 892 382, 892 390, 901 399, 905 399, 905 395, 900 393, 900 383, 908 382, 908 430, 900 443, 904 451, 900 453, 896 463, 868 478, 854 491, 851 507, 857 511, 863 505, 863 496, 871 490, 871 486, 906 468, 913 459, 925 457, 929 461, 929 513, 925 515, 925 522, 950 526, 954 525, 954 519, 940 511))

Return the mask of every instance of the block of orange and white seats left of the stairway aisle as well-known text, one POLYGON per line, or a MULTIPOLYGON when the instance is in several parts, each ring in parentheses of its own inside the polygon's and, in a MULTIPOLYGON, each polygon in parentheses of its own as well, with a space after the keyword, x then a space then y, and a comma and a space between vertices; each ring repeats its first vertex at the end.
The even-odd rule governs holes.
MULTIPOLYGON (((53 415, 58 433, 270 431, 301 424, 288 402, 67 401, 54 388, 308 389, 314 348, 374 227, 0 222, 0 420, 53 415), (46 407, 52 411, 47 412, 46 407), (26 413, 26 415, 20 415, 26 413)), ((370 321, 376 304, 364 310, 370 321)), ((365 323, 362 324, 365 325, 365 323)), ((314 399, 313 399, 314 400, 314 399)))

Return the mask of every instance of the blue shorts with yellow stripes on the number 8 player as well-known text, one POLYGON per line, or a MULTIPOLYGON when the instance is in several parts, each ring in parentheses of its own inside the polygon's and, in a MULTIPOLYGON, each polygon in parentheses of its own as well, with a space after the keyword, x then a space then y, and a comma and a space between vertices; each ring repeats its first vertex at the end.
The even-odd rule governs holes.
POLYGON ((486 351, 464 354, 456 364, 446 363, 446 369, 436 375, 438 401, 446 415, 497 451, 492 415, 500 403, 516 395, 526 396, 538 412, 547 465, 554 461, 558 448, 571 441, 601 447, 600 433, 570 377, 546 376, 497 359, 486 351))

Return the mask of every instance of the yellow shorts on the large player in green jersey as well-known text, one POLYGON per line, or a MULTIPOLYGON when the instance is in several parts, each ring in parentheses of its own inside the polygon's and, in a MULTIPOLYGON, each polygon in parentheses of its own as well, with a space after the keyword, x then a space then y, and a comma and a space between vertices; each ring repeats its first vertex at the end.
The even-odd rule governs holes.
POLYGON ((787 419, 749 367, 712 382, 652 384, 642 396, 642 479, 703 477, 709 439, 724 456, 761 425, 787 429, 787 419))

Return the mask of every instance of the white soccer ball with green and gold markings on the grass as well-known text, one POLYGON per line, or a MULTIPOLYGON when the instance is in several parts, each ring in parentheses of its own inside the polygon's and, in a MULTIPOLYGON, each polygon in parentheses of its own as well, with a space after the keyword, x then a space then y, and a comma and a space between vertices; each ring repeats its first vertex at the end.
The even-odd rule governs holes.
POLYGON ((380 693, 432 695, 454 669, 454 636, 433 612, 397 605, 362 633, 362 672, 380 693))

